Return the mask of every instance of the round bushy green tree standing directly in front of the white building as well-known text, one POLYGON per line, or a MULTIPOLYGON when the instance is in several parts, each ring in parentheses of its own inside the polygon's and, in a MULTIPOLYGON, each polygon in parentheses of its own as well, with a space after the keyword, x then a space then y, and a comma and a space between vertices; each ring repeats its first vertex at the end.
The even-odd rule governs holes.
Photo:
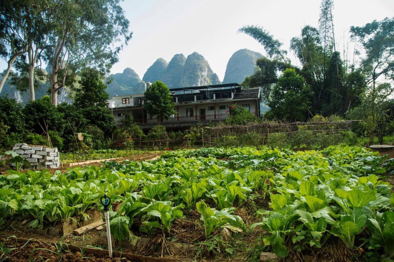
POLYGON ((144 96, 144 107, 151 116, 168 119, 171 114, 177 113, 170 90, 162 81, 156 81, 147 87, 144 96))

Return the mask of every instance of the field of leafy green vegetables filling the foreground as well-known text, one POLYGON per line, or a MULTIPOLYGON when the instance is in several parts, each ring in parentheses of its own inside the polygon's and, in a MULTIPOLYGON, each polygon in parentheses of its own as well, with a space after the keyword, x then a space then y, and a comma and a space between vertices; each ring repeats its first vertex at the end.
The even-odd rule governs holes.
MULTIPOLYGON (((345 254, 393 258, 394 195, 379 177, 392 170, 385 160, 349 146, 203 148, 65 173, 9 171, 0 175, 0 223, 29 220, 36 228, 87 218, 87 210, 102 210, 99 199, 106 193, 120 205, 110 214, 112 235, 131 244, 137 236, 164 236, 193 244, 200 256, 237 257, 212 244, 228 241, 225 228, 241 239, 258 236, 253 250, 279 257, 318 258, 335 243, 345 254)), ((253 250, 243 259, 255 259, 253 250)), ((155 252, 167 253, 161 245, 155 252)))

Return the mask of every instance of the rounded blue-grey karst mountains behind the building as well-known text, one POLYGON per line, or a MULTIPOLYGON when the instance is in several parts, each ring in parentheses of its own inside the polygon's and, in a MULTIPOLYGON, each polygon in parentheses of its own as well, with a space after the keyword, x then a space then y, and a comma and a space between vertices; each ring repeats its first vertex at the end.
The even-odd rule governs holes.
MULTIPOLYGON (((223 83, 242 83, 246 76, 253 74, 256 59, 260 57, 263 55, 248 49, 236 51, 227 63, 223 83)), ((122 73, 111 74, 107 80, 110 81, 108 85, 110 97, 142 94, 145 92, 145 83, 153 83, 156 80, 164 82, 169 89, 222 83, 208 61, 197 52, 193 52, 187 58, 183 54, 176 54, 169 63, 160 57, 147 69, 142 79, 132 68, 125 68, 122 73)), ((22 103, 28 101, 30 96, 28 92, 21 93, 7 84, 8 81, 1 96, 8 95, 9 98, 17 98, 22 103)), ((41 91, 36 93, 36 99, 47 94, 47 89, 47 85, 44 85, 41 91)), ((61 92, 61 100, 72 101, 68 92, 61 92)))

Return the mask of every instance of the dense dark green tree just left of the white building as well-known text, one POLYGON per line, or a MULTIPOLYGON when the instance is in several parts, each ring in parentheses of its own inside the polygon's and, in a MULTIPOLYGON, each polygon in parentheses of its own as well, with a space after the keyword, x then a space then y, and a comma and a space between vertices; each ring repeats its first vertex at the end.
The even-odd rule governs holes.
POLYGON ((74 97, 74 105, 80 108, 91 106, 106 107, 107 100, 110 99, 104 84, 104 76, 99 70, 85 68, 81 72, 81 79, 78 81, 80 89, 77 90, 74 97))

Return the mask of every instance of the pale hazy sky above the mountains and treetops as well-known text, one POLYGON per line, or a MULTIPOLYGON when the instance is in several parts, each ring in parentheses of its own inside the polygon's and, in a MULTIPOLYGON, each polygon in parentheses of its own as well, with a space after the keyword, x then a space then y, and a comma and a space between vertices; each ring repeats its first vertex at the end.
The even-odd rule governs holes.
MULTIPOLYGON (((305 25, 318 27, 320 0, 125 0, 121 7, 130 21, 132 39, 119 54, 111 73, 134 69, 143 77, 159 57, 167 62, 175 54, 203 55, 223 80, 227 62, 234 52, 247 48, 266 55, 252 37, 237 33, 246 25, 262 26, 289 51, 290 39, 305 25)), ((394 0, 334 0, 336 46, 342 52, 349 44, 350 26, 394 15, 394 0)), ((299 65, 293 52, 292 63, 299 65)), ((0 61, 0 70, 6 61, 0 61)))

